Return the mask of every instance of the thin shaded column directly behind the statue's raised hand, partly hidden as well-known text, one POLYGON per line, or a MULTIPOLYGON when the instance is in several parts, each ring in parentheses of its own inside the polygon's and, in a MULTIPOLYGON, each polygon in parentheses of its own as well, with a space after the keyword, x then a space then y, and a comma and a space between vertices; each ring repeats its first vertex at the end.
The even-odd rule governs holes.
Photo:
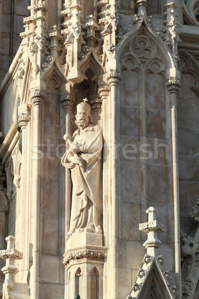
MULTIPOLYGON (((72 122, 72 108, 75 103, 75 96, 73 93, 64 91, 61 93, 61 103, 66 115, 66 131, 65 134, 72 134, 71 122, 72 122)), ((66 148, 68 148, 68 142, 66 141, 66 148)), ((70 225, 70 210, 71 210, 71 175, 70 169, 65 168, 66 171, 66 200, 65 200, 65 234, 69 231, 70 225)), ((67 240, 66 240, 67 241, 67 240)), ((66 245, 66 244, 65 244, 66 245)))

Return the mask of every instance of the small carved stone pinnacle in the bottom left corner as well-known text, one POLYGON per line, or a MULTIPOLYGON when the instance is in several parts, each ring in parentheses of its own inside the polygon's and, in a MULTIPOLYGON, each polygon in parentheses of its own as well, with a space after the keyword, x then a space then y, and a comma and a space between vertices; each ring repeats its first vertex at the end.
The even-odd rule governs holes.
POLYGON ((11 299, 13 298, 11 291, 14 288, 14 277, 18 273, 18 269, 14 265, 14 261, 22 260, 23 254, 14 248, 15 238, 13 236, 6 237, 5 241, 7 242, 7 249, 0 250, 0 258, 6 261, 5 267, 1 269, 5 275, 3 298, 11 299))

